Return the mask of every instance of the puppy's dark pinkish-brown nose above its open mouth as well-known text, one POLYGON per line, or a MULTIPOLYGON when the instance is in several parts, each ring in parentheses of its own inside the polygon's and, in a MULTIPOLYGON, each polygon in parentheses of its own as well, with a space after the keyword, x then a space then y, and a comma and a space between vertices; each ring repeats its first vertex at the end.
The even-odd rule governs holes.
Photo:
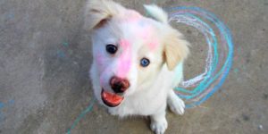
POLYGON ((113 78, 110 80, 110 85, 115 93, 123 93, 130 87, 130 82, 129 80, 113 76, 113 78))

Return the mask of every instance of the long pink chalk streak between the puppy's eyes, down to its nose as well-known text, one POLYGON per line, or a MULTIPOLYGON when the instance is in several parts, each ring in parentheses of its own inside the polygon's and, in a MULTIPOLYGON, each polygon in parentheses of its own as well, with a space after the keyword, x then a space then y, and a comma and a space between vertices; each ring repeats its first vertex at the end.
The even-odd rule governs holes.
POLYGON ((117 64, 116 75, 121 78, 125 78, 128 72, 130 71, 131 66, 131 51, 130 51, 130 42, 125 39, 121 39, 120 46, 122 53, 119 57, 117 64))

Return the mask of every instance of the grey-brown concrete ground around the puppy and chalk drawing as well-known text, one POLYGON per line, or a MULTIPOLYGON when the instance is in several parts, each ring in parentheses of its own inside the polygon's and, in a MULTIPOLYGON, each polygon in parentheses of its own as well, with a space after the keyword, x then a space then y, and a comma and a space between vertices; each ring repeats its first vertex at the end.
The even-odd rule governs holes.
MULTIPOLYGON (((60 134, 93 98, 90 39, 83 26, 86 0, 0 1, 0 133, 60 134)), ((144 13, 147 0, 117 0, 144 13)), ((183 116, 167 114, 174 134, 268 133, 268 1, 165 0, 163 7, 198 6, 229 26, 234 64, 220 91, 183 116)), ((204 38, 180 27, 191 42, 186 78, 203 71, 204 38), (198 38, 199 37, 199 38, 198 38), (201 39, 200 39, 201 38, 201 39)), ((118 120, 99 105, 71 130, 75 134, 151 133, 147 118, 118 120)))

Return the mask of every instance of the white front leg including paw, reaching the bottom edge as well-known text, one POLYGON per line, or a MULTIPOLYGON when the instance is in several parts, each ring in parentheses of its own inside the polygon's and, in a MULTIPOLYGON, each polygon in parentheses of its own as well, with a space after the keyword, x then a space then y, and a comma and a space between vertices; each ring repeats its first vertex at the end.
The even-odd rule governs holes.
POLYGON ((167 121, 165 119, 165 106, 160 113, 155 113, 150 116, 151 119, 151 130, 155 132, 155 134, 163 134, 167 128, 167 121))

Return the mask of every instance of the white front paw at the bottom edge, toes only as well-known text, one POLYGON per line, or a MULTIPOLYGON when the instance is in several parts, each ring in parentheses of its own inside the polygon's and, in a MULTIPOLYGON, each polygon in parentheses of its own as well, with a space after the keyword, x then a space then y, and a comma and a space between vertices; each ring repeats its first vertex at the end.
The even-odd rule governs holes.
POLYGON ((153 130, 155 134, 163 134, 167 128, 167 125, 168 123, 165 118, 161 121, 152 121, 151 130, 153 130))

